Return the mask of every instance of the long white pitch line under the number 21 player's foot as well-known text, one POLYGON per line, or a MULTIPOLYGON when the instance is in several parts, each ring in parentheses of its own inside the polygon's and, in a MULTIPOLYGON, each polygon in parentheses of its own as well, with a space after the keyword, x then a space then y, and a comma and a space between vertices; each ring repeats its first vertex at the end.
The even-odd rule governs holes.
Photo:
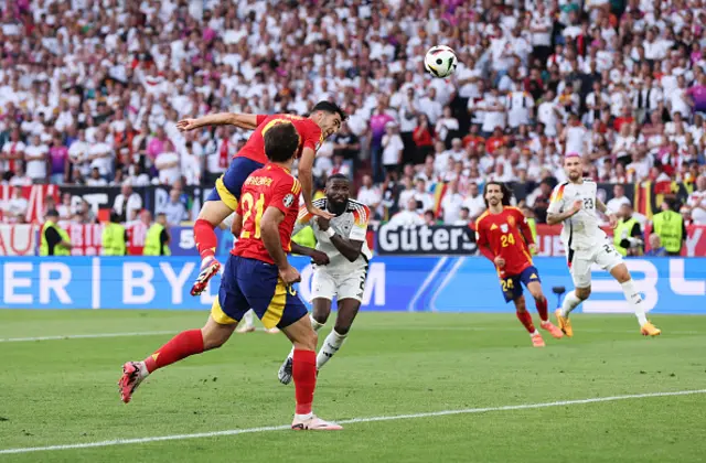
MULTIPOLYGON (((516 405, 516 406, 464 408, 459 410, 442 410, 442 411, 431 411, 426 413, 394 414, 389 417, 353 418, 351 420, 342 420, 338 422, 340 424, 352 424, 352 423, 370 423, 370 422, 376 422, 376 421, 411 420, 417 418, 446 417, 450 414, 485 413, 490 411, 530 410, 530 409, 548 408, 548 407, 564 407, 564 406, 570 406, 570 405, 613 402, 618 400, 629 400, 629 399, 646 399, 652 397, 692 396, 696 394, 706 394, 706 389, 678 390, 674 392, 633 394, 629 396, 596 397, 592 399, 560 400, 557 402, 524 403, 524 405, 516 405)), ((249 434, 254 432, 284 431, 289 428, 290 427, 288 424, 282 424, 282 426, 270 426, 270 427, 261 427, 261 428, 231 429, 227 431, 200 432, 196 434, 158 435, 153 438, 115 439, 111 441, 86 442, 86 443, 64 444, 64 445, 4 449, 4 450, 0 450, 0 455, 10 454, 10 453, 30 453, 30 452, 42 452, 42 451, 52 451, 52 450, 92 449, 97 446, 128 445, 128 444, 140 444, 140 443, 161 442, 161 441, 179 441, 179 440, 185 440, 185 439, 217 438, 222 435, 249 434)))

